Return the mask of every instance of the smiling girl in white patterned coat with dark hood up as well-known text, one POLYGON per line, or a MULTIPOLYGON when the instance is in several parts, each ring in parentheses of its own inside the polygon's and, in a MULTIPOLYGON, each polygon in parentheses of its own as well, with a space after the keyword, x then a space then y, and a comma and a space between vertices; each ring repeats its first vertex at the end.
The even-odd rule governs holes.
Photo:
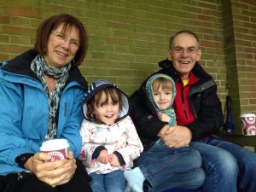
POLYGON ((83 110, 79 159, 92 177, 90 186, 94 192, 123 192, 123 172, 130 170, 143 152, 129 116, 130 99, 115 84, 97 80, 85 93, 83 110))

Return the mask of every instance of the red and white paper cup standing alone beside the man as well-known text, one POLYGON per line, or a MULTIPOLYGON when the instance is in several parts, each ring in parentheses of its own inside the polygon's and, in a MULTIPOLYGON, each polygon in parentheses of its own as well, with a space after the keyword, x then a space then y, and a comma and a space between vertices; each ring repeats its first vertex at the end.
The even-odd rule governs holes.
POLYGON ((240 115, 241 130, 245 136, 256 135, 256 116, 253 113, 243 113, 240 115))

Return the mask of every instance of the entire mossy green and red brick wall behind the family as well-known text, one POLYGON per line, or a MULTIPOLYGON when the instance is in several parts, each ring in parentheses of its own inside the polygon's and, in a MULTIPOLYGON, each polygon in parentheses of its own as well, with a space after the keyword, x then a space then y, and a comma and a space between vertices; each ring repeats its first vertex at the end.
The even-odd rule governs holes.
POLYGON ((166 58, 170 35, 189 29, 201 37, 201 65, 216 80, 223 108, 229 93, 234 96, 235 119, 242 110, 256 112, 255 1, 96 2, 1 1, 0 61, 32 48, 37 26, 45 18, 72 14, 79 17, 90 35, 88 55, 80 66, 84 77, 89 83, 111 80, 130 95, 158 69, 157 62, 166 58))

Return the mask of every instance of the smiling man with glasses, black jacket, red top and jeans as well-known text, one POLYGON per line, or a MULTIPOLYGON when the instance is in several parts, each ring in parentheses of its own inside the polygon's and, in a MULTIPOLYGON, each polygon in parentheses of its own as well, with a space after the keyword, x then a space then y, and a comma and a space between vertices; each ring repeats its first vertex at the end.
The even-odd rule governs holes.
POLYGON ((200 152, 207 175, 203 191, 236 192, 238 183, 244 191, 255 192, 256 154, 213 136, 223 125, 223 113, 217 85, 200 66, 200 59, 199 38, 194 32, 180 31, 170 38, 167 59, 159 62, 162 69, 156 73, 165 73, 176 82, 173 108, 177 126, 154 119, 144 110, 142 94, 147 80, 131 96, 131 118, 145 148, 160 137, 167 146, 190 143, 200 152))

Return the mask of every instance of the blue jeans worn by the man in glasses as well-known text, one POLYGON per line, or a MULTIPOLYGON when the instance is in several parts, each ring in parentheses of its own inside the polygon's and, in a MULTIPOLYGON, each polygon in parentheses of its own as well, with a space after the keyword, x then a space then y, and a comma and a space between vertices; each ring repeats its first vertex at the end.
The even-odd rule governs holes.
POLYGON ((256 154, 234 143, 214 138, 190 144, 202 158, 207 178, 203 191, 236 192, 237 183, 246 192, 256 191, 256 154))

